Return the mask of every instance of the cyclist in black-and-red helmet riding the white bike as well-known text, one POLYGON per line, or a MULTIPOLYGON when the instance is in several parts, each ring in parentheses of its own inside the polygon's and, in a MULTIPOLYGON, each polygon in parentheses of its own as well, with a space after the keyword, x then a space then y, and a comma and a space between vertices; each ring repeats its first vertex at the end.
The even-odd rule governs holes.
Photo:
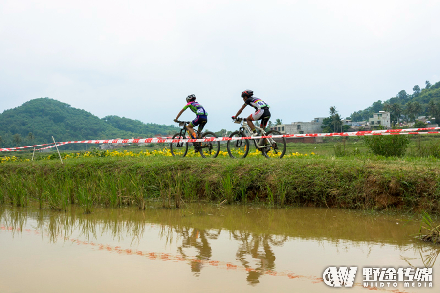
POLYGON ((264 129, 267 126, 267 122, 269 122, 270 112, 269 112, 269 105, 267 105, 266 102, 264 102, 263 100, 257 97, 252 97, 253 95, 254 92, 251 91, 250 89, 247 89, 242 92, 244 105, 242 105, 242 107, 240 108, 240 110, 238 110, 235 116, 232 116, 232 119, 235 119, 235 117, 240 115, 247 105, 253 106, 257 111, 249 115, 249 117, 246 118, 246 121, 247 121, 247 125, 252 129, 252 136, 257 136, 257 131, 255 130, 255 126, 252 121, 261 119, 260 128, 264 129))

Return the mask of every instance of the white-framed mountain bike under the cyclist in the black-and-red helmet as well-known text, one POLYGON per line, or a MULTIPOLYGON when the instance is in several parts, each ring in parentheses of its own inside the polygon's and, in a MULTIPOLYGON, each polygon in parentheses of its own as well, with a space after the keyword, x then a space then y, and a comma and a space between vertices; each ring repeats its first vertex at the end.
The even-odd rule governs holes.
MULTIPOLYGON (((230 138, 233 137, 250 137, 252 136, 252 130, 247 125, 244 118, 237 117, 234 123, 240 124, 238 131, 232 132, 229 135, 230 138)), ((276 130, 269 130, 267 132, 264 129, 255 126, 257 129, 258 136, 269 136, 269 135, 282 135, 281 132, 276 130)), ((257 139, 239 139, 239 140, 229 140, 227 142, 227 149, 229 156, 231 158, 241 159, 245 158, 249 152, 249 140, 254 142, 255 147, 261 151, 262 155, 266 158, 276 157, 282 158, 286 152, 286 138, 281 138, 279 141, 275 141, 273 138, 257 138, 257 139)))

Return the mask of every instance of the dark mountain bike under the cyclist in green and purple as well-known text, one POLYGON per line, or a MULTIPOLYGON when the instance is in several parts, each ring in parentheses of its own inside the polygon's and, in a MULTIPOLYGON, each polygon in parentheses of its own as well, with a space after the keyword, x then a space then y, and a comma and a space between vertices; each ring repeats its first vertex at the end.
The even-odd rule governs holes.
MULTIPOLYGON (((178 139, 186 139, 186 132, 188 132, 188 128, 186 127, 191 121, 177 121, 179 126, 182 127, 179 133, 173 135, 173 140, 178 139)), ((189 134, 189 132, 188 132, 189 134)), ((194 152, 199 152, 203 158, 215 158, 219 154, 220 151, 220 142, 209 141, 214 138, 217 138, 211 131, 200 132, 199 129, 196 131, 197 138, 204 138, 207 141, 205 142, 197 142, 193 143, 194 152)), ((189 136, 191 137, 191 135, 189 136)), ((188 143, 182 142, 172 142, 170 143, 170 151, 174 157, 184 157, 188 153, 188 143)))

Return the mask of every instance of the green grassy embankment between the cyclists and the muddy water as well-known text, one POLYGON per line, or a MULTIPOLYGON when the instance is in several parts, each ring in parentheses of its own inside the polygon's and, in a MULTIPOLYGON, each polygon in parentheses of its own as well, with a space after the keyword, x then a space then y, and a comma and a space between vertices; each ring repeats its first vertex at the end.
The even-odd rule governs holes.
POLYGON ((0 165, 0 204, 85 212, 188 201, 440 212, 438 160, 84 158, 0 165))

